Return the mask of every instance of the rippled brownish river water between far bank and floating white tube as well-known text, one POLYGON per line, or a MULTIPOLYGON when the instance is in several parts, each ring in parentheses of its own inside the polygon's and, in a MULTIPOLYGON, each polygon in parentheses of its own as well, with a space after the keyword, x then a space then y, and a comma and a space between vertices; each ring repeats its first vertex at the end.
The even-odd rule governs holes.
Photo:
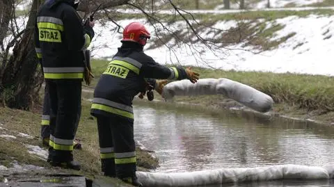
MULTIPOLYGON (((135 104, 134 114, 135 139, 159 157, 155 172, 334 163, 331 127, 157 104, 135 104)), ((307 186, 330 185, 312 183, 307 186)), ((301 181, 269 184, 255 186, 304 186, 301 181)))

